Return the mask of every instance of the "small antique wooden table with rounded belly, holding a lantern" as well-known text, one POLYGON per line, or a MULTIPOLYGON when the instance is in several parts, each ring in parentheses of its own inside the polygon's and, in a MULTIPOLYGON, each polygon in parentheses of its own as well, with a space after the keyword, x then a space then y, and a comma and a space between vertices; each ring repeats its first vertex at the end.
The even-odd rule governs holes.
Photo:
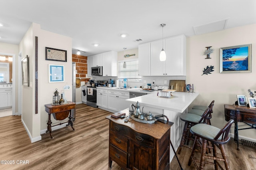
MULTIPOLYGON (((75 130, 73 128, 73 122, 72 122, 73 117, 72 117, 71 110, 76 108, 76 103, 69 101, 68 104, 66 105, 54 106, 52 104, 47 104, 44 106, 45 106, 45 111, 48 113, 47 130, 45 133, 50 132, 51 138, 53 138, 52 127, 57 126, 57 125, 52 126, 51 114, 53 115, 54 119, 57 121, 62 121, 68 117, 68 121, 64 123, 68 123, 68 125, 66 126, 71 125, 72 129, 75 130)), ((62 125, 64 123, 59 123, 58 125, 62 125)))

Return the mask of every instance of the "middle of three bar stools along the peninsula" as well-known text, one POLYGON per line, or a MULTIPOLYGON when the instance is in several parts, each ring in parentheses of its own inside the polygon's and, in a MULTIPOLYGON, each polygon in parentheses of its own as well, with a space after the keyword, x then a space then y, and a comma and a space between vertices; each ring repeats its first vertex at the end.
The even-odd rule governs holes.
POLYGON ((180 141, 178 154, 180 154, 182 146, 190 148, 190 147, 184 145, 186 140, 188 140, 188 142, 189 142, 189 140, 192 140, 191 136, 190 136, 190 132, 189 132, 190 127, 192 127, 198 123, 206 123, 206 117, 210 114, 210 110, 212 110, 213 106, 214 106, 214 104, 212 103, 210 108, 207 108, 206 111, 204 111, 204 114, 202 116, 188 114, 188 113, 180 116, 180 120, 184 121, 185 125, 184 125, 183 132, 182 132, 182 138, 180 141))

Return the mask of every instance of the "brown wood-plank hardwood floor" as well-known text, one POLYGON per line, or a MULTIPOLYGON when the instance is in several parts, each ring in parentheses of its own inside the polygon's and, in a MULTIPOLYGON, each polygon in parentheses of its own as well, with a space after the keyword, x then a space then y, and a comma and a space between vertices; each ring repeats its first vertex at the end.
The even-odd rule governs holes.
MULTIPOLYGON (((14 160, 14 164, 1 164, 0 169, 120 170, 115 162, 112 163, 112 168, 108 168, 108 120, 105 117, 110 114, 112 113, 84 104, 76 105, 75 131, 71 127, 54 130, 53 139, 48 133, 42 134, 42 140, 34 143, 30 142, 20 116, 2 117, 0 118, 0 160, 14 160), (20 160, 24 162, 20 163, 20 160)), ((240 144, 238 151, 234 140, 230 140, 225 149, 231 170, 256 169, 255 148, 240 144)), ((182 168, 195 170, 193 164, 187 165, 189 156, 190 149, 182 148, 181 154, 178 155, 182 168)), ((170 169, 180 169, 175 157, 170 169)), ((205 169, 213 170, 214 166, 206 165, 205 169)))

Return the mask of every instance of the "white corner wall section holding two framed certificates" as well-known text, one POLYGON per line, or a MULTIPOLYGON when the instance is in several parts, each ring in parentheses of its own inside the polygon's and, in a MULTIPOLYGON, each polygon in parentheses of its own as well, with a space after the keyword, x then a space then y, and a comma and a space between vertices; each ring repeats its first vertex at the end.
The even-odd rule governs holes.
MULTIPOLYGON (((22 58, 29 56, 29 77, 32 83, 30 87, 22 87, 22 123, 31 142, 36 142, 41 139, 41 130, 47 128, 48 114, 44 105, 52 103, 55 89, 61 93, 64 85, 72 86, 72 39, 41 30, 39 24, 32 23, 20 42, 19 51, 22 52, 22 58), (38 37, 38 114, 35 114, 35 36, 38 37), (67 62, 45 60, 45 47, 67 50, 67 62), (48 83, 48 64, 64 65, 65 82, 48 83)), ((71 89, 65 91, 65 97, 72 101, 71 89)), ((52 118, 52 125, 54 123, 60 121, 56 123, 52 118)))

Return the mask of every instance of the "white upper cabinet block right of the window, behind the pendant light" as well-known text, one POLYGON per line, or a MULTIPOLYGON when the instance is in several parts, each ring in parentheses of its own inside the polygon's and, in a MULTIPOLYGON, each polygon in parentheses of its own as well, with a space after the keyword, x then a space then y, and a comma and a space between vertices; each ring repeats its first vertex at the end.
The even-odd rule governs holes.
POLYGON ((186 75, 186 37, 180 35, 166 38, 164 42, 158 40, 150 42, 150 45, 140 44, 139 70, 142 76, 149 73, 151 76, 186 75), (166 61, 159 59, 162 46, 166 52, 166 61))

